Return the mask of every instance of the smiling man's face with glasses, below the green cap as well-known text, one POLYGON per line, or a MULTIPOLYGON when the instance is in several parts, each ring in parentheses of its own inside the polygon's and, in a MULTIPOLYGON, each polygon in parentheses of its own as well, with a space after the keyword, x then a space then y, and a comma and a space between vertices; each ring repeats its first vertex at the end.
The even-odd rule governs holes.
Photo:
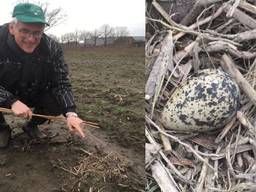
POLYGON ((32 53, 39 45, 44 32, 44 24, 10 23, 9 31, 18 46, 26 53, 32 53))

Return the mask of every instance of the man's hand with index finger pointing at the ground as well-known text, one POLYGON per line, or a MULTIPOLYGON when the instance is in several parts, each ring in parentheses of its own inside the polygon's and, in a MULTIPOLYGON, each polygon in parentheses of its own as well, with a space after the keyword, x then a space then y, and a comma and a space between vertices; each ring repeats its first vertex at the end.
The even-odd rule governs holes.
POLYGON ((84 121, 80 119, 79 117, 75 116, 68 116, 67 117, 67 125, 69 128, 69 131, 71 133, 78 133, 80 137, 84 138, 84 132, 83 129, 81 128, 81 125, 84 121))

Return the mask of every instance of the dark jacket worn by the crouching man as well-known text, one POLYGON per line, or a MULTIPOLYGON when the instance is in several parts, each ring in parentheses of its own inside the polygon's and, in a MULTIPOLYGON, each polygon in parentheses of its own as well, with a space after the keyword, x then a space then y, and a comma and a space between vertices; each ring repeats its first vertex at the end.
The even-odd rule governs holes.
POLYGON ((11 106, 50 91, 63 108, 75 111, 74 96, 61 46, 43 34, 32 54, 25 53, 9 33, 8 24, 0 26, 0 105, 11 106))

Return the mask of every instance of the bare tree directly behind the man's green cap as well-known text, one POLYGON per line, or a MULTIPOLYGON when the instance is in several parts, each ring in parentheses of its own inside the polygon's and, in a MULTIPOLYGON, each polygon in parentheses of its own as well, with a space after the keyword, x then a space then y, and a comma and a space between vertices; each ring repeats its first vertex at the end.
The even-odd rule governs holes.
POLYGON ((45 30, 49 30, 52 27, 55 27, 61 23, 63 23, 67 19, 67 14, 64 10, 59 8, 50 9, 49 3, 44 3, 42 1, 33 1, 33 0, 17 0, 17 3, 34 3, 40 7, 42 7, 46 21, 49 23, 49 26, 46 26, 45 30))

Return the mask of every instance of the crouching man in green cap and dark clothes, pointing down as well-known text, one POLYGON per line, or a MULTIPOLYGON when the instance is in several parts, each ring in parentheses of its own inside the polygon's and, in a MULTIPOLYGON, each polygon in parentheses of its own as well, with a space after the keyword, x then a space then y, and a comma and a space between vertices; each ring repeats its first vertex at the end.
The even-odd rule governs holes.
MULTIPOLYGON (((38 125, 47 119, 32 116, 63 114, 73 133, 84 137, 75 110, 68 68, 58 43, 44 34, 45 15, 41 7, 21 3, 13 20, 0 26, 0 107, 29 119, 22 127, 31 138, 44 138, 38 125)), ((0 147, 8 145, 11 129, 0 113, 0 147)))

